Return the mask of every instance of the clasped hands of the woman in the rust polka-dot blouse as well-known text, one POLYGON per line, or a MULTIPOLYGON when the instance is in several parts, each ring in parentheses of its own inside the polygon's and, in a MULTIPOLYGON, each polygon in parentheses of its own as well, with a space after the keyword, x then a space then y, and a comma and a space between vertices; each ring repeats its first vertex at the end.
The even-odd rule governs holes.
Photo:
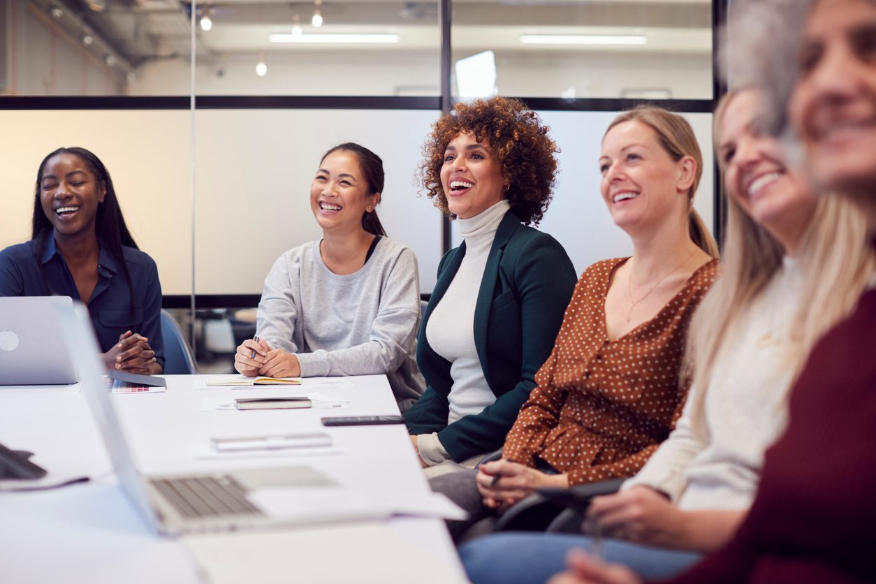
POLYGON ((505 459, 481 465, 475 480, 484 505, 503 510, 533 495, 536 489, 569 487, 569 475, 548 475, 505 459))

